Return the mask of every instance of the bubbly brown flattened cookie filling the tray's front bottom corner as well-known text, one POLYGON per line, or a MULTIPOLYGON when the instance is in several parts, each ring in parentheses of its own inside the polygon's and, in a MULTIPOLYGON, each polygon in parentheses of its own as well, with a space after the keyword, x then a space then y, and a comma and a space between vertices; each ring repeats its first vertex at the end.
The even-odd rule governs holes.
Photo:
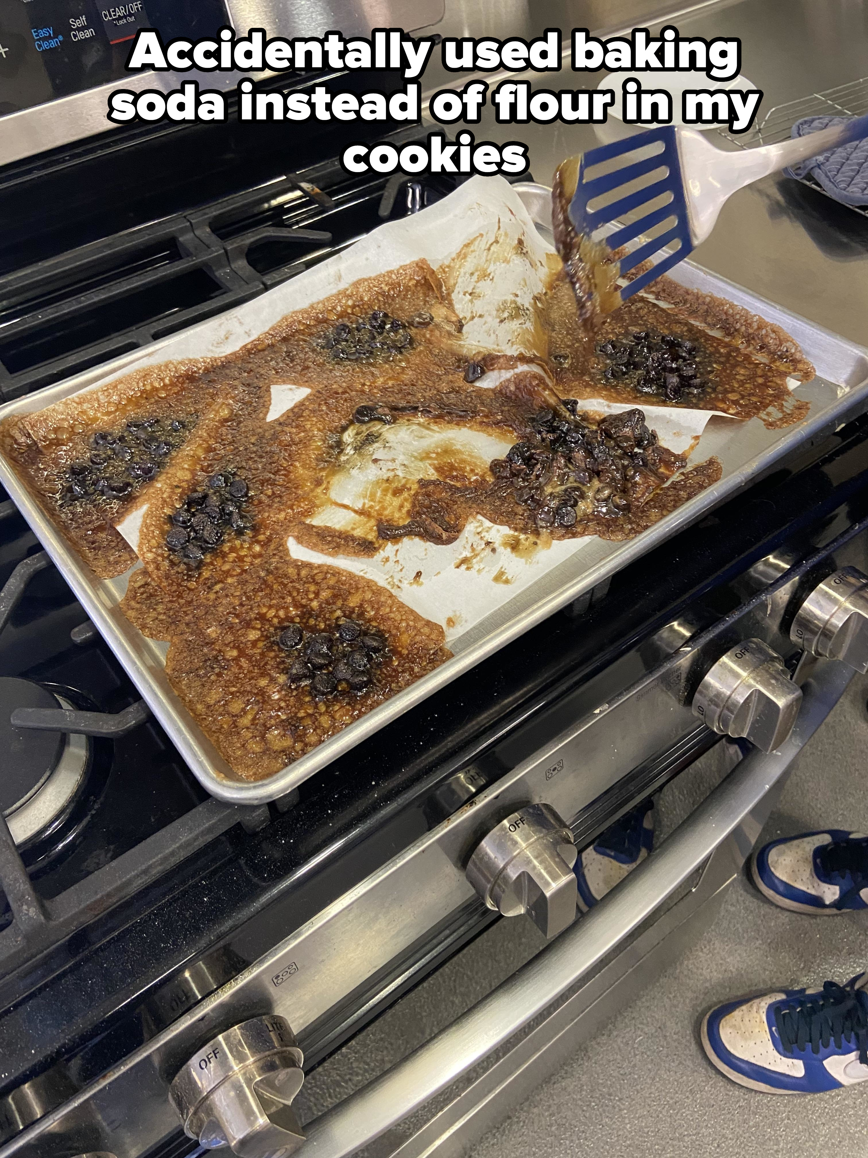
POLYGON ((233 771, 248 780, 279 771, 450 655, 442 628, 383 587, 285 552, 170 610, 163 601, 147 573, 137 571, 123 608, 146 633, 170 636, 169 681, 233 771), (351 644, 372 638, 383 646, 340 645, 337 631, 347 623, 359 628, 351 644), (306 638, 287 648, 280 639, 292 626, 306 638), (331 646, 312 647, 323 636, 331 646), (352 674, 340 679, 338 646, 348 672, 368 676, 359 690, 352 674), (365 654, 354 660, 356 652, 365 654), (294 664, 307 664, 312 676, 292 681, 294 664), (339 690, 317 694, 312 681, 321 677, 339 690))

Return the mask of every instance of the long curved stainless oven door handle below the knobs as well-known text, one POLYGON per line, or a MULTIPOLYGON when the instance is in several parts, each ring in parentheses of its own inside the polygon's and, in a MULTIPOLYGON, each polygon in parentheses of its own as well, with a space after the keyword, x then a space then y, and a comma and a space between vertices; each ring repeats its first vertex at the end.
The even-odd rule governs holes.
POLYGON ((778 752, 752 749, 603 902, 431 1041, 306 1128, 303 1153, 343 1158, 368 1145, 557 1002, 699 868, 749 816, 840 699, 853 672, 822 660, 778 752))

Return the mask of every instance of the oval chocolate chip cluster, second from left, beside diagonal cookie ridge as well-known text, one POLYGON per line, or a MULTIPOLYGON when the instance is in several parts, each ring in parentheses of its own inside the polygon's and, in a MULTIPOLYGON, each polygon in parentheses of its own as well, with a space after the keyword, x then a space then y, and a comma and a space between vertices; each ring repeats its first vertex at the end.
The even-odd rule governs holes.
POLYGON ((243 535, 253 526, 247 513, 248 484, 233 470, 219 470, 205 479, 170 516, 167 548, 187 566, 198 567, 228 532, 243 535))

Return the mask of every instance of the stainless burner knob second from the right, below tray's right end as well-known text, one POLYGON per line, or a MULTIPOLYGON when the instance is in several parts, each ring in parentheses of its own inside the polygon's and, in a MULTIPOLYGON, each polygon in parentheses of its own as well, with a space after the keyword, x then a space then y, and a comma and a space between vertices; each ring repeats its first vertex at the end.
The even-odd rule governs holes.
POLYGON ((712 732, 744 736, 763 752, 774 752, 793 731, 801 703, 802 689, 780 655, 762 639, 745 639, 699 684, 693 714, 712 732))

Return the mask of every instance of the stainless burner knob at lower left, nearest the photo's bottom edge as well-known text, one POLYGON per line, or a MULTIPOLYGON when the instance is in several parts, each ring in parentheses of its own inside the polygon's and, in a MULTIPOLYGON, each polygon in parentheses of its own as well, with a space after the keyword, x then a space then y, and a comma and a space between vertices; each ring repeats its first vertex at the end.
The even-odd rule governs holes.
POLYGON ((204 1046, 169 1091, 185 1133, 238 1158, 286 1158, 304 1141, 292 1100, 304 1075, 282 1017, 255 1017, 204 1046))

